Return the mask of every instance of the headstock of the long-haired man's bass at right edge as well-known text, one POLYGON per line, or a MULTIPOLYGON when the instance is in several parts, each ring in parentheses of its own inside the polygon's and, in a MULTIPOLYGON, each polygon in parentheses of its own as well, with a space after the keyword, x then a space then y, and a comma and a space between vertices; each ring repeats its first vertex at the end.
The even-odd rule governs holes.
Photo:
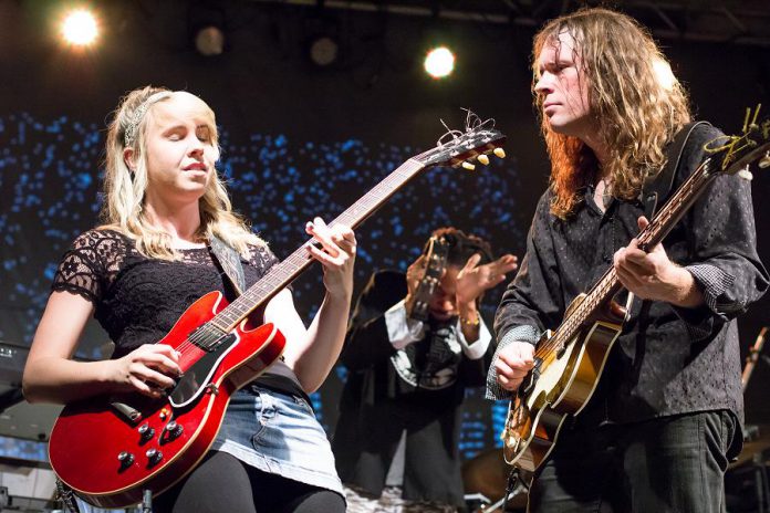
POLYGON ((770 167, 770 118, 758 122, 759 111, 762 106, 751 112, 746 109, 743 129, 740 135, 725 136, 719 143, 711 142, 706 146, 706 150, 712 154, 722 154, 721 166, 717 172, 726 175, 738 175, 750 180, 751 172, 749 165, 759 159, 760 169, 770 167), (711 147, 711 144, 717 144, 711 147))

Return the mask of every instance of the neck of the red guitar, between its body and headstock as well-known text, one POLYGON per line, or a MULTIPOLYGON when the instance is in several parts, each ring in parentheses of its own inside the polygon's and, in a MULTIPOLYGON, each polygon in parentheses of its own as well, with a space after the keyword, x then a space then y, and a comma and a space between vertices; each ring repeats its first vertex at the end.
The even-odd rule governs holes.
MULTIPOLYGON (((424 168, 425 166, 415 158, 402 164, 358 201, 337 216, 329 226, 346 224, 351 228, 358 227, 424 168)), ((261 280, 243 292, 242 295, 218 313, 210 322, 223 332, 237 326, 249 313, 278 294, 313 263, 305 248, 313 242, 313 239, 308 240, 285 260, 270 268, 270 271, 261 280)))

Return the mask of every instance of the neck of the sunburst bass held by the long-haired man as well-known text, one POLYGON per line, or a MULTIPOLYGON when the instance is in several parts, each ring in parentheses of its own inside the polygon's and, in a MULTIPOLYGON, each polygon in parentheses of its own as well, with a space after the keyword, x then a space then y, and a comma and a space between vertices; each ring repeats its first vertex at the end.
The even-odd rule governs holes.
MULTIPOLYGON (((676 190, 666 205, 653 217, 649 224, 639 232, 639 248, 651 251, 655 244, 672 231, 684 214, 695 203, 706 187, 716 178, 714 157, 707 158, 698 169, 676 190)), ((552 337, 549 347, 563 347, 581 327, 593 318, 600 308, 610 302, 623 289, 614 268, 610 268, 586 293, 583 302, 564 318, 552 337)))

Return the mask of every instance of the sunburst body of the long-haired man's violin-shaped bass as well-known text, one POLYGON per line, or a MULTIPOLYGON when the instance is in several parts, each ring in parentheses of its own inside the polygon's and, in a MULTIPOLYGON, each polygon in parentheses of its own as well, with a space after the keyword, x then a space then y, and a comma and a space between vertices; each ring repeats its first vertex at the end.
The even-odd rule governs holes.
MULTIPOLYGON (((581 295, 570 304, 566 317, 583 300, 581 295)), ((538 371, 530 373, 508 408, 502 439, 509 464, 534 472, 545 461, 564 420, 578 415, 596 389, 622 320, 620 306, 610 303, 563 350, 535 360, 538 371)))

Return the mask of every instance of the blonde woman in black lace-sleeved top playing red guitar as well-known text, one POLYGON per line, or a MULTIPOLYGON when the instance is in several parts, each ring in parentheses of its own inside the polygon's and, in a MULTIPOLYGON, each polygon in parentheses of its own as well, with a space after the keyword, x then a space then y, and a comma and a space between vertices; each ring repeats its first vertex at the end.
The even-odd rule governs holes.
MULTIPOLYGON (((155 343, 196 299, 229 292, 209 239, 216 235, 240 254, 247 286, 277 262, 231 211, 215 168, 218 157, 214 112, 197 96, 144 87, 122 101, 107 134, 105 224, 81 234, 62 259, 24 371, 28 400, 160 396, 180 374, 179 354, 155 343), (115 342, 115 354, 74 362, 92 314, 115 342)), ((233 395, 212 450, 156 499, 156 512, 344 511, 334 459, 308 394, 323 383, 342 347, 356 241, 348 228, 329 228, 320 218, 306 231, 320 247, 309 247, 309 254, 323 266, 321 308, 305 328, 290 291, 267 304, 258 321, 285 335, 284 360, 233 395)))

